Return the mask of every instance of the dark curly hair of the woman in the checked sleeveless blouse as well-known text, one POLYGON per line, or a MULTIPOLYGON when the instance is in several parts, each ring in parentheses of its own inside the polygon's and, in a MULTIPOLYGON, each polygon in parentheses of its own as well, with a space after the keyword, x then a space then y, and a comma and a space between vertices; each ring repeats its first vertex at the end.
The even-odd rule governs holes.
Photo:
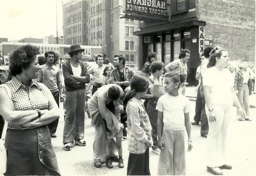
POLYGON ((10 75, 19 75, 22 73, 22 69, 29 68, 38 54, 40 54, 39 48, 31 44, 18 47, 10 54, 10 75))

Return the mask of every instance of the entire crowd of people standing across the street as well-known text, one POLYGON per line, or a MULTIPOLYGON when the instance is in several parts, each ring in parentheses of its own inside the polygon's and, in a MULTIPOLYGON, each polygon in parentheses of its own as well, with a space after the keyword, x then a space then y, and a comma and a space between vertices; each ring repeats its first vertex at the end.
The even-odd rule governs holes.
POLYGON ((89 83, 92 89, 87 109, 95 129, 95 167, 106 163, 111 169, 113 161, 119 168, 125 167, 122 141, 127 137, 127 175, 150 175, 149 148, 159 155, 158 175, 185 175, 184 131, 190 151, 190 125, 201 122, 201 136, 207 137, 207 150, 211 151, 207 153, 207 171, 221 175, 221 169, 232 168, 226 158, 231 107, 237 107, 238 120, 251 120, 252 83, 247 60, 241 60, 232 79, 227 69, 228 52, 220 47, 205 49, 196 75, 196 113, 190 122, 185 96, 189 50, 181 50, 179 58, 167 66, 150 52, 141 74, 125 65, 123 55, 115 55, 112 65, 99 53, 95 67, 89 68, 81 62, 83 51, 78 44, 72 45, 70 59, 63 64, 58 64, 60 57, 54 51, 38 58, 39 49, 30 44, 11 53, 9 80, 0 74, 0 113, 8 123, 6 175, 60 175, 51 144, 51 138, 57 137, 59 103, 65 100, 63 149, 69 151, 73 144, 86 146, 89 83))

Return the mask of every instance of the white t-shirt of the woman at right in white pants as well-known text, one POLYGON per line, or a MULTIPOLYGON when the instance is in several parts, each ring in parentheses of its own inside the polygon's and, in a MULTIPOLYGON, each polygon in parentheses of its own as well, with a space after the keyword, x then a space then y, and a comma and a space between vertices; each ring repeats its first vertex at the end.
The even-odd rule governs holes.
POLYGON ((207 68, 203 75, 203 85, 211 87, 211 103, 233 104, 234 79, 229 69, 219 71, 216 67, 207 68))

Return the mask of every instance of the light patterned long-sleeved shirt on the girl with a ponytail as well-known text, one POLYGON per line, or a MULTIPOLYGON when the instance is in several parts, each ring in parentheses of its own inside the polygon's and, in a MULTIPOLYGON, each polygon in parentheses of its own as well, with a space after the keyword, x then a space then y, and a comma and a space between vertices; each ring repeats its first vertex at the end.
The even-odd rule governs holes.
POLYGON ((152 128, 142 101, 133 97, 127 103, 126 112, 129 130, 128 150, 134 154, 145 153, 147 149, 145 142, 151 136, 152 128))

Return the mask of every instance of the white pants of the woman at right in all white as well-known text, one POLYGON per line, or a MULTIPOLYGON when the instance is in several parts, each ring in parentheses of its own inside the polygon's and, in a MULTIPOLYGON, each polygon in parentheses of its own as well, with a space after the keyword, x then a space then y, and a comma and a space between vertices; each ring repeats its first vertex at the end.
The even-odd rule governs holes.
POLYGON ((226 161, 227 131, 234 114, 232 104, 214 104, 213 109, 217 118, 214 124, 209 121, 209 113, 206 113, 209 122, 206 146, 207 166, 219 167, 228 163, 226 161))

